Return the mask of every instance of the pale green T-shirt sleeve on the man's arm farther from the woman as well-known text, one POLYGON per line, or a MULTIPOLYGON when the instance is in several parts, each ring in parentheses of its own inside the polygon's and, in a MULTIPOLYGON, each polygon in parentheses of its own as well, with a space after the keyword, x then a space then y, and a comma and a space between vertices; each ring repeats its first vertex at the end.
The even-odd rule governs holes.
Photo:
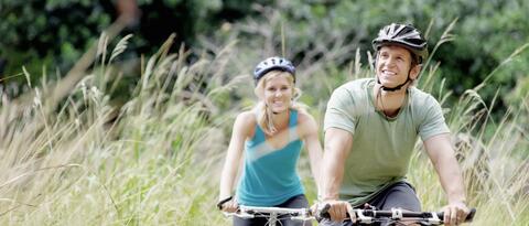
POLYGON ((423 114, 424 120, 419 126, 419 134, 423 141, 433 136, 450 132, 450 129, 444 120, 443 109, 438 100, 432 96, 429 96, 425 99, 423 114))

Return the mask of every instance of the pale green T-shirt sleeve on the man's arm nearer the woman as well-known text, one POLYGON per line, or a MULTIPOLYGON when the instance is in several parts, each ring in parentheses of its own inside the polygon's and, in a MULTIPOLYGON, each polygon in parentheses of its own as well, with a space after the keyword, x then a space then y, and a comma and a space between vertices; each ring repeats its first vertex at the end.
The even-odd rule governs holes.
POLYGON ((354 98, 345 88, 338 88, 333 92, 327 103, 323 130, 328 128, 338 128, 355 133, 355 125, 357 122, 354 117, 354 98))

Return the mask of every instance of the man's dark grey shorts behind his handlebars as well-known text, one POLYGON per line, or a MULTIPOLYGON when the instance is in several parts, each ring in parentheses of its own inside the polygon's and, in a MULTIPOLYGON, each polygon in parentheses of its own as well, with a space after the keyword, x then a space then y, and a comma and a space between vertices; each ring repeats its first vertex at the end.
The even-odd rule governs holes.
MULTIPOLYGON (((391 208, 402 208, 407 211, 419 212, 421 211, 421 202, 417 197, 415 190, 411 184, 407 182, 397 182, 393 185, 387 187, 380 194, 370 200, 369 205, 375 206, 377 209, 389 211, 391 208)), ((363 208, 364 205, 353 206, 355 208, 363 208)), ((320 222, 322 226, 352 226, 350 220, 343 223, 332 222, 330 219, 323 219, 320 222)), ((371 224, 376 225, 376 224, 371 224)), ((384 224, 382 224, 384 225, 384 224)))

